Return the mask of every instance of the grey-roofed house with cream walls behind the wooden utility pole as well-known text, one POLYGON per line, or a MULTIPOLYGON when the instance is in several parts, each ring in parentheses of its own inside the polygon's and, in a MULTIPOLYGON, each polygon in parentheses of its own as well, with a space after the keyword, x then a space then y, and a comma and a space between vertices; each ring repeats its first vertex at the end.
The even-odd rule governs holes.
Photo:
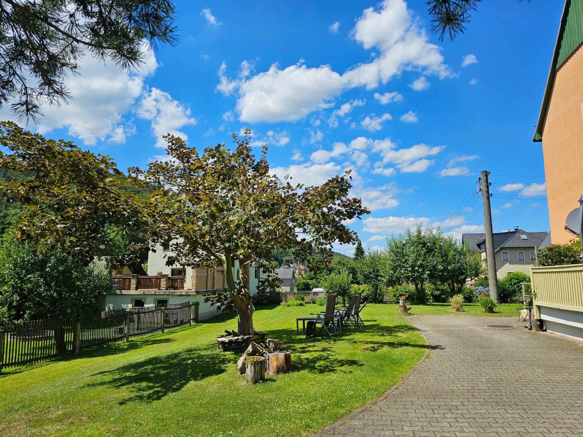
MULTIPOLYGON (((540 247, 549 232, 526 232, 515 228, 512 231, 494 232, 494 255, 498 279, 512 272, 530 275, 530 266, 535 262, 535 247, 540 247)), ((486 258, 486 234, 462 234, 462 243, 472 252, 486 258)))

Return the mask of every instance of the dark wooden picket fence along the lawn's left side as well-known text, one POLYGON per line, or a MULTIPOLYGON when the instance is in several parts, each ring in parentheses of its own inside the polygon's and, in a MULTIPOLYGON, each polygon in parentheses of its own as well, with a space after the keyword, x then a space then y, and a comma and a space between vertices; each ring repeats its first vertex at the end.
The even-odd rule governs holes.
POLYGON ((184 302, 166 307, 117 309, 78 319, 4 323, 0 326, 0 371, 198 323, 199 304, 184 302))

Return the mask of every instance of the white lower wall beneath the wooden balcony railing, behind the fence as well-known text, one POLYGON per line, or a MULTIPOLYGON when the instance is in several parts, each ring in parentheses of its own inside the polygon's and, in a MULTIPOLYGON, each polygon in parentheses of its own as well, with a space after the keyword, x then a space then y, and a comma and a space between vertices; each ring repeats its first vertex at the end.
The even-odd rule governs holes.
POLYGON ((153 292, 152 290, 123 290, 115 294, 101 295, 99 299, 99 311, 111 311, 112 309, 127 309, 132 307, 132 299, 144 299, 145 306, 156 305, 156 299, 168 299, 168 304, 182 304, 184 302, 200 302, 198 307, 199 321, 212 319, 220 313, 210 302, 204 302, 205 294, 192 294, 185 292, 173 292, 168 294, 167 291, 153 292), (131 291, 131 292, 129 292, 131 291))

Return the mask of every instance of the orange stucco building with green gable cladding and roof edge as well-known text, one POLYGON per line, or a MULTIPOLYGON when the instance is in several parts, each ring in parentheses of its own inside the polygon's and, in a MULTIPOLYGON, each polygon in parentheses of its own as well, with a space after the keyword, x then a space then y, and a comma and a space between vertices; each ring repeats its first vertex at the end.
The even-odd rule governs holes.
POLYGON ((566 243, 583 193, 583 0, 565 2, 533 141, 542 141, 550 237, 566 243))

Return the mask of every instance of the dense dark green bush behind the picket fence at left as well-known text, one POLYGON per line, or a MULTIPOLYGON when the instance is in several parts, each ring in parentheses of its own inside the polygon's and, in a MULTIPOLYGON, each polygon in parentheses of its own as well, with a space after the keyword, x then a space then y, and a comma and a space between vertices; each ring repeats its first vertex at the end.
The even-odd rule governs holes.
POLYGON ((92 312, 97 295, 111 290, 109 274, 83 266, 53 250, 40 255, 34 246, 6 235, 0 248, 0 306, 3 317, 31 320, 92 312))

